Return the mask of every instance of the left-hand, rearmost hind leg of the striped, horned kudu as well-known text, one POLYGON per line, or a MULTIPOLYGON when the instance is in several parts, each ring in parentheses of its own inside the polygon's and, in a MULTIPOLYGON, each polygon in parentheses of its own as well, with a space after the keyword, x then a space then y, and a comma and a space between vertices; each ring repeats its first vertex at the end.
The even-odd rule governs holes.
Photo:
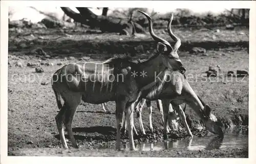
POLYGON ((65 112, 66 112, 66 103, 64 103, 64 105, 62 106, 62 108, 60 109, 59 113, 55 116, 55 121, 57 124, 57 128, 58 128, 58 132, 59 132, 59 137, 60 137, 60 141, 62 144, 62 147, 65 149, 68 149, 68 145, 65 139, 65 135, 64 135, 64 120, 65 120, 65 112))

